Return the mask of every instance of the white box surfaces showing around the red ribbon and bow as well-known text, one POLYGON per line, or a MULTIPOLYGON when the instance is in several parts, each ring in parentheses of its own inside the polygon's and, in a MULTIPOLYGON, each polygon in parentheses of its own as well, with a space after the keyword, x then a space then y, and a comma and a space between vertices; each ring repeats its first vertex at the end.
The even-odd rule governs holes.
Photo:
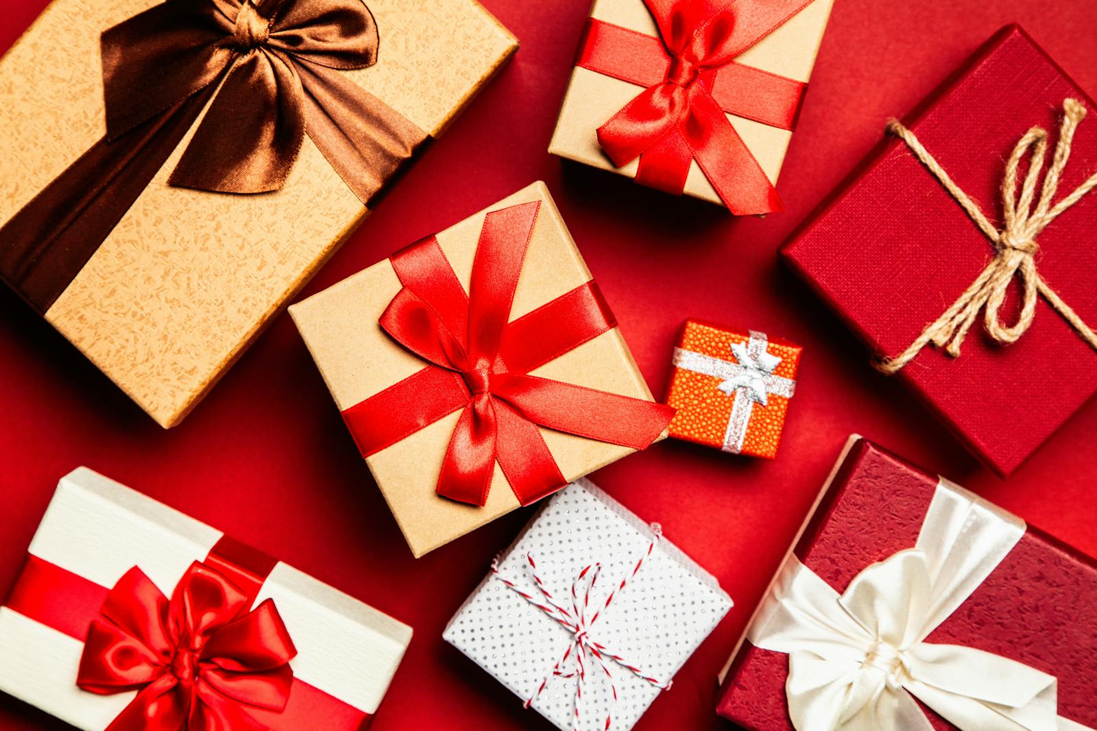
MULTIPOLYGON (((79 468, 58 483, 27 552, 31 560, 103 587, 137 566, 170 597, 192 562, 205 560, 222 537, 204 523, 79 468)), ((290 662, 294 677, 372 716, 411 628, 282 562, 267 575, 253 606, 267 598, 274 601, 297 649, 290 662)), ((82 641, 11 606, 0 607, 0 690, 84 731, 103 731, 136 692, 95 695, 78 688, 82 652, 82 641)))

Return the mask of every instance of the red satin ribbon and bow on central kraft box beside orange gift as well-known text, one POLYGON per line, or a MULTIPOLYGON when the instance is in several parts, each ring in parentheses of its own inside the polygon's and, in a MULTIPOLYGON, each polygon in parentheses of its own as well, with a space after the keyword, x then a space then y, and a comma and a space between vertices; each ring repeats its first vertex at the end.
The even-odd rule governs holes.
POLYGON ((632 449, 651 445, 674 410, 528 372, 612 330, 592 282, 508 322, 539 203, 489 213, 466 295, 431 237, 391 258, 404 288, 381 327, 430 364, 343 412, 364 456, 461 410, 438 493, 483 505, 495 462, 525 505, 566 484, 538 426, 632 449))

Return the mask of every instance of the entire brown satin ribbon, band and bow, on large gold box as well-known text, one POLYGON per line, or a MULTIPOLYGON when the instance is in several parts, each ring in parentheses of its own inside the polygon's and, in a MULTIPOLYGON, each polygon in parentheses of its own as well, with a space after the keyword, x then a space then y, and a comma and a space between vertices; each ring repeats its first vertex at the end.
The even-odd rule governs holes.
POLYGON ((0 277, 43 313, 207 103, 171 185, 276 191, 307 134, 365 205, 428 138, 341 73, 377 60, 362 0, 166 0, 101 46, 106 136, 0 228, 0 277))

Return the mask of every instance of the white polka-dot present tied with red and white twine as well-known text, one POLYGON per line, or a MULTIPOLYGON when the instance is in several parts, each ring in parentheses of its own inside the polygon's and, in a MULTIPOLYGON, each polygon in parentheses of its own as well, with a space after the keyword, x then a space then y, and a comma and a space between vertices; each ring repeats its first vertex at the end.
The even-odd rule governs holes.
POLYGON ((587 480, 538 513, 442 637, 565 731, 626 731, 727 614, 716 579, 587 480))

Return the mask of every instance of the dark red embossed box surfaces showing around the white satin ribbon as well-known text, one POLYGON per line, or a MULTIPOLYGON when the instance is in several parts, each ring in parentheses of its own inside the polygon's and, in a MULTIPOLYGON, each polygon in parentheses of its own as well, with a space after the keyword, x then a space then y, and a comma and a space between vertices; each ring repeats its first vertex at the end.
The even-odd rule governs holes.
MULTIPOLYGON (((793 553, 834 590, 913 548, 939 478, 851 438, 793 553)), ((772 587, 771 587, 772 589, 772 587)), ((927 642, 1009 658, 1059 679, 1059 715, 1097 728, 1097 561, 1029 526, 1019 542, 927 642)), ((756 615, 757 617, 757 615, 756 615)), ((746 729, 792 731, 789 655, 744 640, 717 710, 746 729)), ((935 729, 954 729, 921 706, 935 729)))

